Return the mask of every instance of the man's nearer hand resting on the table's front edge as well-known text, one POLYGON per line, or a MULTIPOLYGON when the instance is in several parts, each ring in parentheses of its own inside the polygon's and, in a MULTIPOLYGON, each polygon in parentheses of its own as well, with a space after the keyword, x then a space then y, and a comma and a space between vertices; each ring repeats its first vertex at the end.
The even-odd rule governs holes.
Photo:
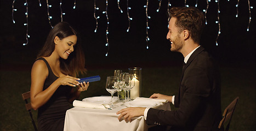
POLYGON ((116 112, 116 114, 117 115, 120 114, 120 116, 118 117, 118 120, 124 117, 124 120, 126 122, 128 121, 130 122, 133 117, 143 116, 145 109, 146 108, 125 108, 116 112))

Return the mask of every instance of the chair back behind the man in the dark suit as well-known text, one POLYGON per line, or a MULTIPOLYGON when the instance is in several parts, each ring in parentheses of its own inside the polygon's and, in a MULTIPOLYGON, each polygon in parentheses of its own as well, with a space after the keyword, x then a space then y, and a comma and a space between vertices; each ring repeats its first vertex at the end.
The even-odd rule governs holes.
POLYGON ((234 110, 236 108, 236 104, 237 104, 237 101, 238 101, 239 97, 236 97, 233 102, 231 102, 227 107, 226 109, 224 110, 223 112, 223 118, 222 120, 220 121, 219 123, 219 129, 221 128, 224 128, 224 124, 227 123, 227 126, 225 128, 225 130, 229 130, 229 126, 230 126, 230 121, 231 121, 231 118, 232 118, 232 115, 234 113, 234 110))

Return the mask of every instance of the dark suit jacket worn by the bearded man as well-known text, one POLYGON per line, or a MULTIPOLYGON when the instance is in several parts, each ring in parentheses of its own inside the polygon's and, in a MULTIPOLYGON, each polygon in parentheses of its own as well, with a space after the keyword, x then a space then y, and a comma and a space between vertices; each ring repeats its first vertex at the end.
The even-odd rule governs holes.
POLYGON ((178 110, 149 109, 146 123, 178 130, 218 130, 221 120, 219 69, 202 46, 185 64, 174 103, 178 110))

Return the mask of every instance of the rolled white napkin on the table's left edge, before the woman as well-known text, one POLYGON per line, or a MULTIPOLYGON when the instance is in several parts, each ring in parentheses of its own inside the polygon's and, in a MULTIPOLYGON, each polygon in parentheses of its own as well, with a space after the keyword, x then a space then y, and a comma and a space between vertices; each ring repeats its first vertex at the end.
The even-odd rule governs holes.
POLYGON ((93 108, 93 109, 109 109, 109 105, 99 104, 99 103, 90 103, 82 102, 81 100, 74 100, 73 106, 80 108, 93 108))

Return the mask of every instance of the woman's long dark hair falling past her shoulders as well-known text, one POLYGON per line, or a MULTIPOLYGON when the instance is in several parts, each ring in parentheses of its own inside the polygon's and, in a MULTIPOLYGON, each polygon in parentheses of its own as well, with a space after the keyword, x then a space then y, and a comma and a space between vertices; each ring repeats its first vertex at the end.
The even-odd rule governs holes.
POLYGON ((69 37, 71 35, 77 36, 77 43, 74 46, 73 53, 70 54, 68 59, 60 58, 60 70, 65 75, 78 76, 79 73, 85 73, 85 58, 82 50, 82 46, 79 43, 78 33, 67 22, 59 22, 52 28, 48 34, 48 37, 44 43, 43 48, 38 53, 39 57, 48 57, 52 55, 55 49, 54 38, 57 36, 59 39, 69 37))

